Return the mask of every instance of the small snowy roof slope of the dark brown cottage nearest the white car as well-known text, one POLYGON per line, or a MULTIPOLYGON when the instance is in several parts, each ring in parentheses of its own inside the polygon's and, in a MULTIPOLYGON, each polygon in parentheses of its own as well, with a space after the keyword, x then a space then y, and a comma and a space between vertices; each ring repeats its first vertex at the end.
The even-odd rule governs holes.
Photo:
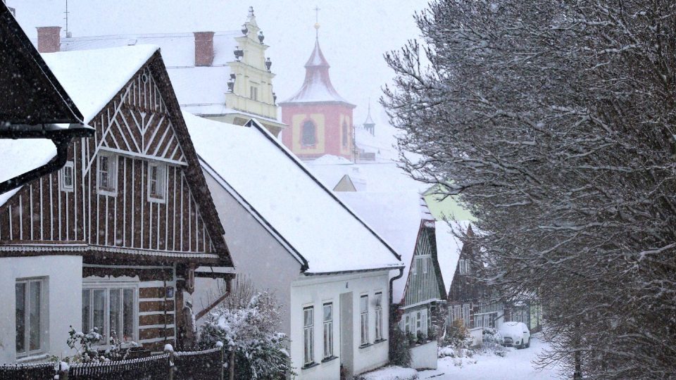
POLYGON ((460 260, 460 252, 463 249, 463 241, 458 239, 453 234, 453 228, 467 230, 469 222, 458 222, 453 224, 453 228, 449 222, 438 220, 435 222, 435 234, 437 236, 437 261, 439 262, 439 269, 442 272, 442 279, 444 279, 444 286, 446 291, 451 288, 453 282, 453 275, 456 273, 458 267, 458 260, 460 260))

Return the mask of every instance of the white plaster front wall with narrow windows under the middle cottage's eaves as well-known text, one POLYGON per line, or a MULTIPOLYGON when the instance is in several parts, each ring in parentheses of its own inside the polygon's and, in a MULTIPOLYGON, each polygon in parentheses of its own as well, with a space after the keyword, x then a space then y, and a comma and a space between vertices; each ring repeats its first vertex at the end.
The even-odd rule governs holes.
POLYGON ((352 292, 352 326, 353 326, 353 369, 354 374, 361 374, 370 369, 382 367, 388 362, 388 329, 389 326, 389 281, 388 272, 363 272, 355 274, 334 274, 320 276, 301 275, 294 281, 291 289, 291 358, 292 365, 299 379, 339 379, 341 362, 340 352, 340 294, 352 292), (368 294, 369 342, 375 341, 375 293, 382 292, 382 335, 386 341, 360 348, 361 327, 359 298, 368 294), (323 304, 332 302, 334 355, 338 358, 330 362, 323 359, 323 304), (317 366, 308 369, 303 367, 303 308, 314 306, 314 359, 317 366))

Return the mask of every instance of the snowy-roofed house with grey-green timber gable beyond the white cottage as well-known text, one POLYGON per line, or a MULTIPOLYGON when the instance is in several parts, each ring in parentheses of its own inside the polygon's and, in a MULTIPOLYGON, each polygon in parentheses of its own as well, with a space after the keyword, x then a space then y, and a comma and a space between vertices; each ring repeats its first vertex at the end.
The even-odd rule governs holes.
POLYGON ((446 298, 434 243, 434 219, 416 191, 339 192, 339 198, 363 217, 406 265, 392 277, 392 302, 400 308, 399 328, 412 334, 411 367, 437 368, 433 315, 446 298))

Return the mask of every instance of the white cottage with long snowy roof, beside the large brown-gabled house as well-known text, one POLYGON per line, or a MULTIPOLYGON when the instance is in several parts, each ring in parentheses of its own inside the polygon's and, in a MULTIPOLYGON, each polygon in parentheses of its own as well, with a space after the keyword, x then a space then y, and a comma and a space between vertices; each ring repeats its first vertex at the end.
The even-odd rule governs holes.
POLYGON ((387 364, 389 274, 403 267, 399 255, 258 122, 184 118, 237 273, 284 305, 280 329, 299 379, 387 364))

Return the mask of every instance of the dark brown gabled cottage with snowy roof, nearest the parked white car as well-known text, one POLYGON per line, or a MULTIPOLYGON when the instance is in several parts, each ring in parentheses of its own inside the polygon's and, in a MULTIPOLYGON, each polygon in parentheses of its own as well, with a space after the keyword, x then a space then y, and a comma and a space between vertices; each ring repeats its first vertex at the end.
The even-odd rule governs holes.
MULTIPOLYGON (((497 329, 508 320, 506 307, 499 295, 477 279, 476 270, 483 263, 472 245, 455 236, 448 222, 436 224, 439 265, 448 289, 446 325, 460 321, 478 345, 483 329, 497 329)), ((468 236, 474 234, 468 223, 455 228, 468 236)))

